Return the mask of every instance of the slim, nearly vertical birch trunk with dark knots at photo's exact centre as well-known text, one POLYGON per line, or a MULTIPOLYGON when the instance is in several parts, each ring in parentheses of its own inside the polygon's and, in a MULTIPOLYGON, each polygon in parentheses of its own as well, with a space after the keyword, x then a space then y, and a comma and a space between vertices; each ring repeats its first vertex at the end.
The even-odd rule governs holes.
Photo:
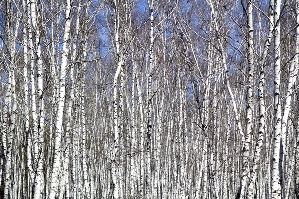
POLYGON ((153 73, 153 13, 154 0, 151 0, 149 5, 150 10, 150 46, 149 46, 149 79, 148 79, 148 131, 147 131, 147 166, 146 166, 146 199, 151 198, 151 133, 152 133, 152 73, 153 73))

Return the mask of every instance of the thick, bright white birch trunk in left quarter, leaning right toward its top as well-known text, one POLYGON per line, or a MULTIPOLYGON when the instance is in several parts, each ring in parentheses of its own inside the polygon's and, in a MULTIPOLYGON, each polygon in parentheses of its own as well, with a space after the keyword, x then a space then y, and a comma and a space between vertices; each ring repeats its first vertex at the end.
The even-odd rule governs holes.
POLYGON ((69 51, 68 41, 69 41, 69 34, 70 34, 70 27, 71 27, 70 11, 71 11, 71 1, 66 0, 65 24, 64 24, 64 35, 63 35, 60 77, 59 77, 59 101, 58 101, 57 119, 56 119, 54 163, 53 163, 53 169, 51 175, 49 199, 55 199, 56 193, 58 193, 58 186, 59 186, 62 119, 63 119, 63 109, 64 109, 64 101, 65 101, 65 77, 66 77, 66 69, 68 65, 67 64, 68 51, 69 51))

